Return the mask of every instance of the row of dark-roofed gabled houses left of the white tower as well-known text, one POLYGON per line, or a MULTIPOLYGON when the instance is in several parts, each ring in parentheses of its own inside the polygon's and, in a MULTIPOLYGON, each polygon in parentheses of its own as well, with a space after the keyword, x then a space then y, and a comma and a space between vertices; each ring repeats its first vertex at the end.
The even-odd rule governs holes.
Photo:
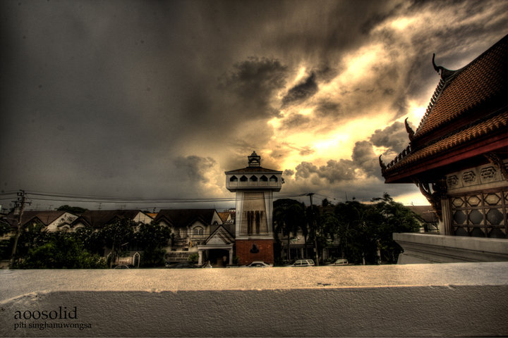
MULTIPOLYGON (((131 220, 138 225, 155 222, 169 227, 174 234, 166 247, 165 258, 171 262, 187 261, 191 253, 198 252, 198 246, 216 243, 217 237, 224 244, 233 244, 234 214, 234 211, 219 212, 215 209, 162 209, 158 213, 140 210, 101 210, 84 211, 80 214, 68 211, 25 211, 20 218, 20 225, 23 229, 40 225, 48 232, 75 232, 81 227, 99 231, 116 220, 131 220)), ((19 215, 14 212, 1 216, 0 222, 11 227, 11 232, 4 234, 3 239, 16 234, 18 220, 19 215)), ((131 256, 134 256, 136 248, 129 249, 131 256)), ((104 256, 108 253, 109 250, 106 248, 104 256)))

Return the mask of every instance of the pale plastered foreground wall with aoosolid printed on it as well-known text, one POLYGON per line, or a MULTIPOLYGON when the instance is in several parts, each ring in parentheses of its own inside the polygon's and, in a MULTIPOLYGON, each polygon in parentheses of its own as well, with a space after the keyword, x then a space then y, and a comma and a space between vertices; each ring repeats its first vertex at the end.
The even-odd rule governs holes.
POLYGON ((508 263, 1 270, 0 296, 1 337, 508 335, 508 263))

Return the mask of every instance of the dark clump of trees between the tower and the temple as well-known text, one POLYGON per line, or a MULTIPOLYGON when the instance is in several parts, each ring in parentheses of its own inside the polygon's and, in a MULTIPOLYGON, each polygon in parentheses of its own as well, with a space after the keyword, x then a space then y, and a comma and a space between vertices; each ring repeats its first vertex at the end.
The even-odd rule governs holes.
POLYGON ((394 232, 417 232, 424 222, 421 216, 395 202, 389 194, 370 201, 346 201, 332 204, 327 199, 321 206, 306 206, 294 199, 274 201, 275 260, 284 263, 282 250, 291 252, 291 238, 303 235, 305 254, 319 263, 322 249, 339 242, 339 255, 350 263, 397 263, 402 248, 392 239, 394 232), (279 238, 282 234, 282 238, 279 238), (282 246, 281 244, 283 244, 282 246))

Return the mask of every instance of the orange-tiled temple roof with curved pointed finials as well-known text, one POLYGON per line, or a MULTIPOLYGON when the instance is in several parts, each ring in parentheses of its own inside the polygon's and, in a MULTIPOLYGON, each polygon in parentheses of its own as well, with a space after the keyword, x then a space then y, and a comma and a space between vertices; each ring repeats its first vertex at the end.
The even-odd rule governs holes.
POLYGON ((401 177, 411 182, 408 170, 416 173, 452 163, 456 149, 466 158, 478 155, 466 149, 471 144, 507 142, 507 61, 508 35, 459 70, 437 66, 433 58, 441 77, 418 129, 413 132, 406 123, 407 148, 387 165, 380 159, 387 182, 401 182, 401 177), (468 151, 471 154, 464 155, 468 151))

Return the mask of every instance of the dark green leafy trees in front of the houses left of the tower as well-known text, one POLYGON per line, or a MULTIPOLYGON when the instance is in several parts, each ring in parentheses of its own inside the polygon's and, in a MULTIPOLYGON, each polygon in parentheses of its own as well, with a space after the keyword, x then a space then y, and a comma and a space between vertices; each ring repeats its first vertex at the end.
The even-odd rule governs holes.
MULTIPOLYGON (((2 259, 11 258, 13 238, 0 244, 2 259)), ((80 227, 75 232, 48 232, 35 223, 21 232, 11 268, 111 268, 114 259, 126 256, 129 249, 141 252, 140 266, 163 266, 164 247, 171 238, 171 230, 155 222, 118 219, 98 231, 80 227), (111 249, 108 258, 104 248, 111 249)))

